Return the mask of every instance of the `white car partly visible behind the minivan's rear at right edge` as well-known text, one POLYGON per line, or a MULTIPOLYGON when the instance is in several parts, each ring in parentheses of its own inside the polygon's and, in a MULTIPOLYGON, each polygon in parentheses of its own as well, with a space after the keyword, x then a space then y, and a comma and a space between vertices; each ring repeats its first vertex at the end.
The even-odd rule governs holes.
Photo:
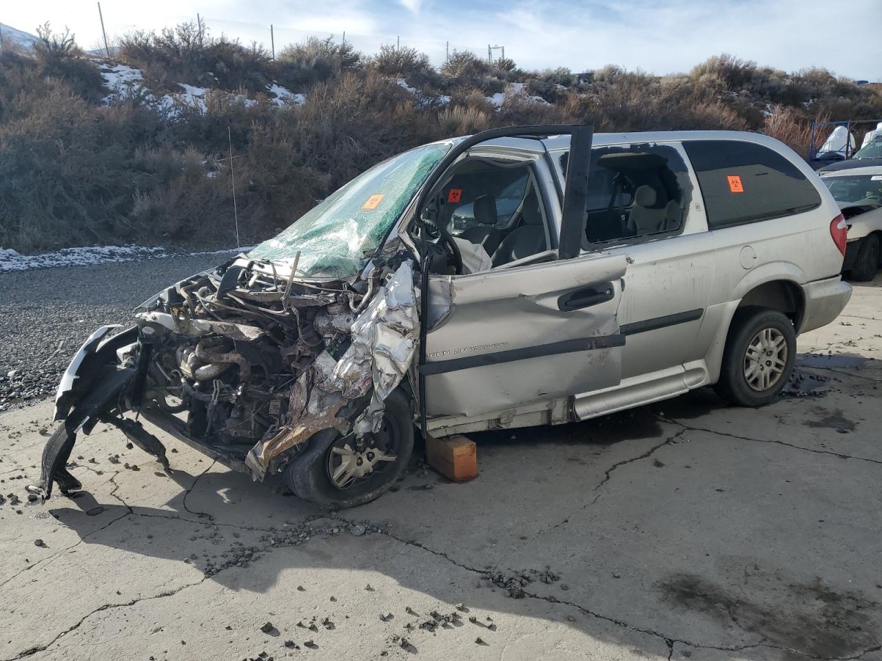
POLYGON ((882 264, 882 166, 821 174, 848 224, 842 272, 866 282, 882 264))

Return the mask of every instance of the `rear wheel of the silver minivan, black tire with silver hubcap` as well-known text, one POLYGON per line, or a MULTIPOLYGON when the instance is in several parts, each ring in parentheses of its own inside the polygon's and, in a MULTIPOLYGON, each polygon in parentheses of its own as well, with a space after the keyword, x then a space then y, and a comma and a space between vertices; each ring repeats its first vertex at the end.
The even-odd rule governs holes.
POLYGON ((734 405, 770 404, 787 385, 795 362, 796 331, 786 315, 768 308, 740 309, 729 327, 715 390, 734 405))

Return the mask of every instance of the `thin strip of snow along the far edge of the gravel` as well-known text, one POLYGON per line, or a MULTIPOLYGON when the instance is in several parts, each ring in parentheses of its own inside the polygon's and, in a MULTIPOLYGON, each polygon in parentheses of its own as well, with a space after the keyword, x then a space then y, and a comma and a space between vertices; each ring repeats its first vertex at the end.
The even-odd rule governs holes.
POLYGON ((0 273, 9 271, 28 271, 30 269, 49 269, 58 266, 88 266, 108 262, 132 262, 138 259, 156 259, 170 256, 220 255, 222 253, 245 252, 254 246, 228 248, 221 250, 198 250, 196 252, 176 252, 154 246, 87 246, 64 248, 41 255, 21 255, 11 248, 0 248, 0 273))

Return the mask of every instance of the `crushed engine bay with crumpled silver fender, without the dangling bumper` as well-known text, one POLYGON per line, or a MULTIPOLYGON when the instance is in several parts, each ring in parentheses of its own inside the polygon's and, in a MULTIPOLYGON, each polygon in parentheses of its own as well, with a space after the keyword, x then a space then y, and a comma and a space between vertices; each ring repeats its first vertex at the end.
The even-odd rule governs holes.
POLYGON ((285 279, 247 258, 169 287, 138 314, 143 398, 181 414, 191 439, 245 457, 256 479, 320 429, 375 431, 419 332, 411 266, 398 261, 375 266, 363 291, 295 281, 296 260, 285 279))

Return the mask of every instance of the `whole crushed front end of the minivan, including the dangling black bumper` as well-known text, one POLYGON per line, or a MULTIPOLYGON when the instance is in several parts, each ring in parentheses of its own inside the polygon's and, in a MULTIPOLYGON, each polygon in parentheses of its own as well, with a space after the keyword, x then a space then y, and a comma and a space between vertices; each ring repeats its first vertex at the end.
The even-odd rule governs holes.
MULTIPOLYGON (((86 342, 81 360, 93 361, 88 372, 102 371, 93 381, 108 383, 107 394, 102 399, 94 388, 93 411, 78 404, 74 412, 93 416, 88 433, 100 410, 101 421, 165 464, 161 442, 137 420, 143 417, 259 480, 280 472, 315 434, 332 430, 340 441, 328 472, 346 488, 398 458, 372 436, 383 436, 384 400, 407 375, 418 345, 411 264, 400 254, 380 258, 353 284, 298 278, 296 257, 281 276, 277 264, 239 256, 184 279, 143 304, 136 327, 109 338, 102 330, 86 342)), ((81 360, 71 369, 82 371, 81 360)), ((56 400, 56 419, 65 420, 59 431, 67 428, 44 452, 34 489, 44 498, 53 479, 63 491, 78 488, 64 470, 83 424, 66 403, 76 379, 67 386, 63 380, 56 400)))

